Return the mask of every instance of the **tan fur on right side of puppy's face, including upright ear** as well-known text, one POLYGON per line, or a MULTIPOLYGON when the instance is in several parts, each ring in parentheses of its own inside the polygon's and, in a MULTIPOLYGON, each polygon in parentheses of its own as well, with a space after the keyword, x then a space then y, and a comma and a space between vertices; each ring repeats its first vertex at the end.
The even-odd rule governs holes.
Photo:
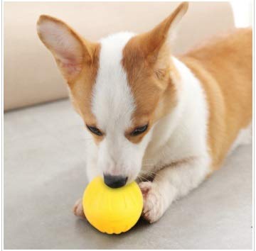
POLYGON ((139 143, 151 125, 169 113, 176 104, 174 81, 178 81, 179 76, 170 60, 167 38, 171 26, 187 9, 186 2, 180 4, 153 30, 129 40, 123 50, 122 65, 127 72, 136 104, 132 118, 134 126, 126 133, 126 137, 133 143, 139 143), (145 133, 137 137, 130 135, 134 128, 146 123, 149 123, 149 128, 145 133))

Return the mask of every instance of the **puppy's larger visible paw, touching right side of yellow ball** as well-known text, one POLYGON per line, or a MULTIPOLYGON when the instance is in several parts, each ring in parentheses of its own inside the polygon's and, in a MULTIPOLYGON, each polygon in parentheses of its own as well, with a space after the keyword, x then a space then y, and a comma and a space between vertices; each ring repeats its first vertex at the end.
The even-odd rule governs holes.
POLYGON ((142 216, 149 223, 154 223, 164 213, 164 201, 159 192, 159 187, 154 182, 141 182, 139 187, 143 195, 142 216))

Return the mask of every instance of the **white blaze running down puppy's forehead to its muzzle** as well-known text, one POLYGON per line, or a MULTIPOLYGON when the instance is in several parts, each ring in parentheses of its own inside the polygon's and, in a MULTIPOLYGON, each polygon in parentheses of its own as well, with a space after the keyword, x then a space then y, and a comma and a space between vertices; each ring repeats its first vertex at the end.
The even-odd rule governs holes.
POLYGON ((100 67, 92 91, 92 113, 105 133, 97 152, 97 170, 122 175, 133 181, 142 165, 150 133, 141 143, 131 143, 125 131, 132 126, 134 97, 122 67, 122 50, 133 33, 118 33, 102 39, 100 67))

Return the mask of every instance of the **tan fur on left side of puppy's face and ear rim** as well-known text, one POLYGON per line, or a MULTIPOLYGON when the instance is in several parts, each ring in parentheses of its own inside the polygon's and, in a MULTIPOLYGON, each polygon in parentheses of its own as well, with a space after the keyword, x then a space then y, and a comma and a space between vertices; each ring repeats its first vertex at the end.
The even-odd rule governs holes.
MULTIPOLYGON (((58 55, 61 50, 61 45, 60 48, 53 48, 47 38, 44 37, 45 34, 41 34, 40 31, 38 32, 39 38, 50 52, 53 53, 60 72, 68 82, 70 99, 75 111, 80 114, 85 124, 97 126, 96 118, 91 111, 91 99, 92 87, 95 84, 97 69, 99 67, 100 43, 91 43, 81 38, 75 30, 58 18, 42 15, 38 19, 38 26, 41 26, 43 22, 53 22, 60 26, 61 29, 68 31, 70 37, 75 38, 76 46, 74 55, 76 55, 76 57, 73 57, 72 63, 67 65, 65 62, 61 61, 58 55)), ((65 54, 65 52, 61 53, 65 54)), ((102 136, 92 135, 96 143, 102 140, 102 136)))

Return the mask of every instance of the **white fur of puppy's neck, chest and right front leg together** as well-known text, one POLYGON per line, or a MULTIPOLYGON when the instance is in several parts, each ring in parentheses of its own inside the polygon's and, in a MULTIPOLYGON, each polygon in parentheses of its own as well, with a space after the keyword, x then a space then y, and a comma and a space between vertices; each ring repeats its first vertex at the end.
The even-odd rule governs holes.
POLYGON ((173 201, 195 189, 210 172, 205 93, 191 70, 173 60, 181 75, 181 82, 176 83, 178 105, 154 127, 142 174, 156 173, 156 177, 153 182, 140 184, 144 217, 151 223, 157 221, 173 201))

